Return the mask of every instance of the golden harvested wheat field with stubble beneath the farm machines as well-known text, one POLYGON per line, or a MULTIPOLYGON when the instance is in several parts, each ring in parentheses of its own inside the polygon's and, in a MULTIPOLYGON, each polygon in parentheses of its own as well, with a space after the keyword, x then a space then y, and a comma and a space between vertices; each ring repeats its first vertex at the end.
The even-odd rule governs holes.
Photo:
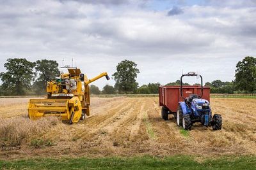
POLYGON ((186 154, 256 155, 256 99, 212 98, 223 129, 195 124, 184 132, 161 119, 157 97, 92 97, 91 116, 77 124, 28 119, 28 99, 0 99, 0 158, 186 154))

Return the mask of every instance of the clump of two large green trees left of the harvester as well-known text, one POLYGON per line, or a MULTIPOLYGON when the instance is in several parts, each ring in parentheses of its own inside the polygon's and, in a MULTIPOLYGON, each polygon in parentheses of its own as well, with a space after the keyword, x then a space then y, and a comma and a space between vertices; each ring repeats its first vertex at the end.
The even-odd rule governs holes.
POLYGON ((45 94, 47 80, 60 76, 55 60, 7 59, 4 67, 6 72, 0 73, 1 96, 45 94))

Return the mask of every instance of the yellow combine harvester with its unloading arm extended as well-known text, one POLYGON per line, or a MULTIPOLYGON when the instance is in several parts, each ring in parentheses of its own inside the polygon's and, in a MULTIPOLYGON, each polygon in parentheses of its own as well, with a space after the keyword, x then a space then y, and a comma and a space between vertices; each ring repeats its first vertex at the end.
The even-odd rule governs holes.
POLYGON ((31 99, 28 104, 28 115, 31 119, 45 116, 61 116, 61 120, 68 120, 70 124, 83 120, 90 115, 89 83, 106 76, 101 73, 95 78, 88 79, 80 69, 68 68, 60 78, 47 82, 47 97, 45 99, 31 99))

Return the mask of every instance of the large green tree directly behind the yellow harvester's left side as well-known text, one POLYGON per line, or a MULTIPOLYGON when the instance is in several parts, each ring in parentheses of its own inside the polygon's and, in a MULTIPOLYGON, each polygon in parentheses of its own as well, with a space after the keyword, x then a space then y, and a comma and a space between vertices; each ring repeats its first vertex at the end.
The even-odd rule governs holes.
POLYGON ((60 76, 58 69, 58 62, 56 60, 36 60, 36 81, 33 84, 33 89, 36 94, 45 94, 46 83, 49 79, 60 76))

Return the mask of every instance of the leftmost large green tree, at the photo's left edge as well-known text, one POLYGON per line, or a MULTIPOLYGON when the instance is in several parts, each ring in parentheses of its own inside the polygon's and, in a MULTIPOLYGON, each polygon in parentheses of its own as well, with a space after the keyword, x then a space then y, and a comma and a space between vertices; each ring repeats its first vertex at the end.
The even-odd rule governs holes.
POLYGON ((31 87, 33 67, 35 64, 26 59, 7 59, 4 64, 6 72, 0 73, 2 89, 8 94, 24 95, 31 87))

